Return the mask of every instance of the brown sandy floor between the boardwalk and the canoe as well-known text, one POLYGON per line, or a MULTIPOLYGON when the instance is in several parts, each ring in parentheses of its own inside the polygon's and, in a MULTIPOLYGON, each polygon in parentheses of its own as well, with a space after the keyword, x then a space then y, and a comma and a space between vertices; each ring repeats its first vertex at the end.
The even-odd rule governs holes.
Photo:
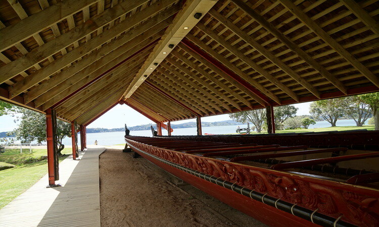
POLYGON ((145 158, 107 149, 99 165, 102 226, 265 226, 145 158))

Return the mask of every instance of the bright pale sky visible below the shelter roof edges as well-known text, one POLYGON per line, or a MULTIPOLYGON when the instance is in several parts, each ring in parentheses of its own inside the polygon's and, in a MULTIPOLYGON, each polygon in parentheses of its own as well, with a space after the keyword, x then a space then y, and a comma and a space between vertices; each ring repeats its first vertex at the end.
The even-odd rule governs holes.
MULTIPOLYGON (((309 104, 310 102, 294 104, 294 106, 299 108, 297 115, 309 115, 309 104)), ((15 118, 11 116, 1 116, 0 117, 0 132, 7 132, 7 131, 13 130, 17 126, 14 120, 15 118)), ((225 121, 225 120, 230 120, 227 114, 202 118, 203 122, 218 122, 218 121, 225 121)), ((189 119, 189 120, 172 122, 171 124, 181 124, 185 122, 195 122, 195 121, 196 121, 195 119, 189 119)), ((155 124, 152 121, 150 121, 148 118, 146 118, 145 116, 141 115, 139 112, 135 111, 134 109, 124 104, 124 105, 116 105, 111 110, 106 112, 98 120, 91 123, 88 126, 88 128, 107 128, 107 129, 122 128, 124 127, 125 123, 129 127, 136 126, 136 125, 144 125, 144 124, 155 124)))

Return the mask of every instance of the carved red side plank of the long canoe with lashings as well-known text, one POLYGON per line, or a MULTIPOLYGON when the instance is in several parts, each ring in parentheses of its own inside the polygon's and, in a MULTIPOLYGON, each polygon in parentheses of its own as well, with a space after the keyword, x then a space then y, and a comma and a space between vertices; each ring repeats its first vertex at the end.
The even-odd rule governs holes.
MULTIPOLYGON (((300 213, 302 213, 300 216, 307 221, 311 221, 310 214, 312 214, 316 209, 317 211, 312 215, 313 222, 320 225, 334 225, 334 221, 336 221, 341 214, 342 217, 338 220, 337 226, 369 226, 374 224, 375 221, 379 221, 379 219, 376 218, 378 216, 377 211, 370 208, 364 210, 361 205, 359 205, 362 201, 367 201, 370 199, 375 200, 375 198, 379 198, 379 191, 374 189, 353 186, 341 182, 316 179, 294 173, 273 171, 271 169, 241 163, 233 163, 193 154, 185 154, 178 151, 140 143, 138 142, 138 137, 133 136, 126 136, 125 141, 134 151, 138 153, 143 152, 155 159, 158 159, 160 162, 165 162, 166 164, 168 163, 171 166, 175 165, 174 167, 177 171, 185 171, 188 173, 188 170, 183 170, 182 168, 191 169, 191 171, 194 171, 193 175, 218 186, 220 186, 222 179, 223 186, 221 186, 226 186, 226 188, 230 189, 230 193, 240 193, 244 196, 246 196, 247 193, 248 196, 250 196, 250 194, 254 195, 255 197, 252 196, 251 199, 255 199, 257 201, 260 199, 261 202, 270 205, 274 209, 277 209, 279 204, 281 204, 283 205, 282 208, 284 211, 290 212, 291 215, 300 215, 300 213), (252 184, 253 178, 259 179, 260 184, 252 184), (273 182, 276 182, 276 185, 273 184, 273 182), (295 189, 296 191, 296 189, 298 189, 298 192, 285 191, 284 188, 287 189, 287 186, 285 187, 286 184, 288 187, 292 187, 292 190, 295 189), (299 191, 302 192, 299 193, 299 191), (320 198, 317 197, 318 194, 322 194, 322 196, 325 196, 333 201, 321 201, 320 198), (317 196, 315 197, 315 195, 317 196), (316 201, 309 203, 309 201, 306 201, 307 198, 316 198, 316 201), (360 202, 357 202, 356 198, 359 198, 358 200, 360 200, 360 202), (285 208, 288 207, 289 204, 291 204, 293 212, 291 209, 288 210, 285 208), (325 207, 323 207, 324 205, 334 205, 334 213, 325 212, 325 207), (356 217, 352 210, 347 208, 349 205, 355 206, 356 209, 362 210, 364 215, 356 217), (298 207, 299 210, 296 207, 298 207), (297 213, 298 211, 299 213, 297 213), (310 213, 308 213, 309 215, 306 215, 303 211, 305 213, 310 213), (316 222, 316 219, 314 218, 316 214, 320 214, 323 218, 326 218, 327 221, 325 219, 325 221, 316 222), (370 223, 369 221, 372 220, 373 222, 370 223)), ((185 181, 186 179, 183 180, 185 181)), ((225 195, 220 196, 222 197, 225 195)), ((246 210, 242 211, 246 212, 246 210)), ((319 218, 317 221, 320 221, 320 219, 322 218, 319 218)), ((261 221, 264 222, 265 220, 261 221)), ((308 223, 312 224, 311 222, 308 223)))

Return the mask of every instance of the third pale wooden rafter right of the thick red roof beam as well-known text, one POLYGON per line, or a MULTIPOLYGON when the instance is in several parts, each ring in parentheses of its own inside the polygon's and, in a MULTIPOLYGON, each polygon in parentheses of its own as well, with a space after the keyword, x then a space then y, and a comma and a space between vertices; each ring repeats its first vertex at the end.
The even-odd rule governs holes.
MULTIPOLYGON (((291 41, 289 38, 287 38, 285 35, 283 35, 283 33, 280 32, 277 28, 275 28, 275 26, 270 24, 266 19, 264 19, 261 15, 259 15, 257 12, 255 12, 252 8, 250 8, 246 4, 244 4, 242 1, 232 0, 232 2, 236 6, 238 6, 240 9, 242 9, 245 13, 247 13, 250 17, 252 17, 255 21, 257 21, 263 28, 265 28, 267 31, 271 32, 278 40, 280 40, 282 43, 286 44, 292 51, 294 51, 298 56, 300 56, 300 58, 302 58, 308 65, 313 67, 313 69, 315 69, 317 72, 319 72, 331 84, 333 84, 340 91, 342 91, 346 94, 347 88, 345 87, 344 84, 341 83, 341 81, 339 81, 335 76, 331 75, 331 73, 329 73, 316 60, 314 60, 310 55, 308 55, 304 50, 302 50, 297 44, 295 44, 293 41, 291 41)), ((352 2, 352 1, 349 1, 349 2, 352 2)), ((267 79, 271 81, 271 79, 269 79, 269 78, 267 78, 267 79)), ((271 82, 273 82, 273 81, 271 81, 271 82)), ((274 84, 276 85, 276 83, 274 83, 274 84)), ((280 85, 286 87, 285 85, 283 85, 281 83, 280 83, 280 85)), ((282 88, 280 88, 280 89, 282 89, 282 88)), ((294 99, 299 101, 299 97, 297 99, 296 98, 294 98, 294 99)))

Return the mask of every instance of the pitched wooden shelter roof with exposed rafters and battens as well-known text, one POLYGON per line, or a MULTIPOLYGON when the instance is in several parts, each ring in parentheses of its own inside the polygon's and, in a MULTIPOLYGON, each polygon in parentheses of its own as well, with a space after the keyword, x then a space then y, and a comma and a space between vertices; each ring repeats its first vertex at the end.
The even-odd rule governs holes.
POLYGON ((0 1, 0 98, 85 125, 378 91, 378 21, 375 0, 0 1))

